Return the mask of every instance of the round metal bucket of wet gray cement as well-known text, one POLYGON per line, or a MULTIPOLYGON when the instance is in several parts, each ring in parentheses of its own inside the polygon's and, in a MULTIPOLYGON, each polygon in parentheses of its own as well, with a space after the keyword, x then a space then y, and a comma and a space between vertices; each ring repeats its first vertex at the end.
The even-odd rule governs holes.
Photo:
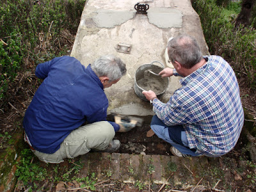
POLYGON ((137 68, 134 76, 134 91, 136 95, 143 100, 147 100, 142 94, 143 91, 152 90, 157 96, 161 96, 166 91, 169 84, 168 77, 156 76, 154 74, 151 74, 150 77, 145 77, 145 71, 149 69, 158 74, 164 69, 164 65, 159 61, 153 61, 152 63, 144 64, 137 68), (159 67, 153 63, 160 63, 163 67, 159 67))

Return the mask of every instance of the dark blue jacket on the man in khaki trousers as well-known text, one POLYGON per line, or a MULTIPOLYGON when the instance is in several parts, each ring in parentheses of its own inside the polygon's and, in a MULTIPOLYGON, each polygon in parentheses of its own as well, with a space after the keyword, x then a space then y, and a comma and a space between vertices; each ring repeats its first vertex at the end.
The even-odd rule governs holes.
POLYGON ((44 79, 24 116, 31 145, 52 154, 77 127, 106 120, 108 99, 90 65, 63 56, 40 63, 36 76, 44 79))

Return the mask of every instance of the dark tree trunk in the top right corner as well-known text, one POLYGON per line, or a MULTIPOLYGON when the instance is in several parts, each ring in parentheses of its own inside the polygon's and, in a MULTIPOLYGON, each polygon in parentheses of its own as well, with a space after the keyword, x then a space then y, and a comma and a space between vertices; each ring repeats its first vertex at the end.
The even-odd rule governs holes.
POLYGON ((243 25, 250 26, 250 18, 253 9, 253 4, 255 4, 256 0, 243 0, 241 4, 241 12, 236 18, 235 26, 243 25))

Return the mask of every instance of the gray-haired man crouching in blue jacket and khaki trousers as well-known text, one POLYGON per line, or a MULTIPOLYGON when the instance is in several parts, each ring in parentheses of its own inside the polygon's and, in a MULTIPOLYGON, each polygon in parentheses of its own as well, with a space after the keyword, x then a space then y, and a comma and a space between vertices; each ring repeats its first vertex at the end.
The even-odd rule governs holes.
POLYGON ((24 116, 24 140, 45 163, 61 163, 91 149, 114 152, 120 141, 115 132, 124 127, 106 120, 108 99, 104 88, 126 73, 115 56, 102 56, 84 67, 76 58, 62 56, 40 63, 36 76, 44 79, 24 116))

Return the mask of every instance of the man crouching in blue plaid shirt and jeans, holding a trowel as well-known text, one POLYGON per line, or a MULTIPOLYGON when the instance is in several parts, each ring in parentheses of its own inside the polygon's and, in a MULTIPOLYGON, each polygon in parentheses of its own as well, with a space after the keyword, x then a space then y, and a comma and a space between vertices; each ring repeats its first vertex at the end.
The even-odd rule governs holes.
POLYGON ((202 56, 195 38, 180 35, 168 42, 169 61, 162 77, 181 76, 181 88, 167 103, 143 92, 153 111, 151 129, 172 145, 175 156, 218 157, 235 147, 244 123, 234 71, 220 56, 202 56))

